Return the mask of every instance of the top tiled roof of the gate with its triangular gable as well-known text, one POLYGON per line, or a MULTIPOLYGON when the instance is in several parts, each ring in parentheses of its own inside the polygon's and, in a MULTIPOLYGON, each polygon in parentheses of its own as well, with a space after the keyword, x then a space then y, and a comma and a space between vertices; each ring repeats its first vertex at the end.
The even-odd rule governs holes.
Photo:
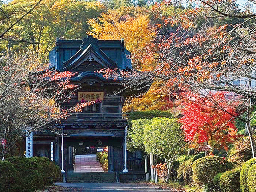
POLYGON ((130 70, 130 52, 124 48, 122 40, 98 40, 88 35, 83 40, 57 39, 56 47, 49 53, 50 68, 56 70, 86 71, 82 64, 98 63, 102 68, 130 70))

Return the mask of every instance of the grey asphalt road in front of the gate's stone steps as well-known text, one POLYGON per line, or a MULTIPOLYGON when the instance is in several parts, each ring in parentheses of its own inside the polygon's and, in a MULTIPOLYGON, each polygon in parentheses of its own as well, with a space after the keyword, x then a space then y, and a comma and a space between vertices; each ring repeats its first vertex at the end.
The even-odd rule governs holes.
POLYGON ((55 183, 68 187, 68 192, 174 192, 172 189, 163 189, 141 183, 55 183))

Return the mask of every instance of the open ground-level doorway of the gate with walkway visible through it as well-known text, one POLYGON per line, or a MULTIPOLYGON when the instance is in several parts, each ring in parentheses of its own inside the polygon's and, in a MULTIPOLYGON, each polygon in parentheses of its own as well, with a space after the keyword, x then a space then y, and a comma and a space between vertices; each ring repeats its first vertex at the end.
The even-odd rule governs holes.
POLYGON ((122 171, 125 152, 123 143, 123 137, 64 137, 64 170, 66 169, 67 172, 99 172, 96 153, 97 150, 104 150, 107 147, 108 152, 105 154, 107 166, 104 166, 103 170, 122 171), (94 165, 96 167, 90 168, 94 165), (108 168, 105 169, 105 167, 108 168))

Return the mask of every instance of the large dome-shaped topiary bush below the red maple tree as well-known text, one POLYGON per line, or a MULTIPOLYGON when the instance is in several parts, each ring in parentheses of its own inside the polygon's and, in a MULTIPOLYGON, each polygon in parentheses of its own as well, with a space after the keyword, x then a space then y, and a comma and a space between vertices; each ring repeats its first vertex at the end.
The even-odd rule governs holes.
POLYGON ((214 177, 218 173, 233 169, 231 162, 221 157, 203 157, 192 164, 193 182, 196 185, 214 185, 214 177))

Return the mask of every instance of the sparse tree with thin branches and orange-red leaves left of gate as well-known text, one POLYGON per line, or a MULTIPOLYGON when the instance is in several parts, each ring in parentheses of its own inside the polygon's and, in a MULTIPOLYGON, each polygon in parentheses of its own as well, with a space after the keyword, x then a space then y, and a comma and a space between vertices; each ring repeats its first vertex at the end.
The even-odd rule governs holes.
MULTIPOLYGON (((91 102, 79 103, 69 109, 59 104, 69 101, 78 89, 70 83, 75 74, 47 70, 47 65, 31 52, 9 50, 0 55, 0 159, 28 133, 66 118, 70 112, 81 111, 91 102)), ((52 130, 55 131, 55 130, 52 130)))

